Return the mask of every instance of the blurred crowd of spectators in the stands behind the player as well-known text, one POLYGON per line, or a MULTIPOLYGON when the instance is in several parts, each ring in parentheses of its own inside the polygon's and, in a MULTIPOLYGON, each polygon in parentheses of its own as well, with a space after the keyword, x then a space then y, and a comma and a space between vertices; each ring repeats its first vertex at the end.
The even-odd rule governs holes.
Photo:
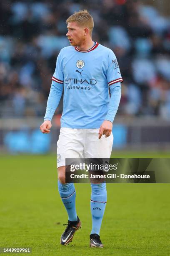
MULTIPOLYGON (((170 17, 138 0, 0 2, 0 116, 43 116, 65 20, 86 8, 93 41, 115 52, 124 82, 118 115, 170 119, 170 17)), ((62 113, 62 100, 56 113, 62 113)))

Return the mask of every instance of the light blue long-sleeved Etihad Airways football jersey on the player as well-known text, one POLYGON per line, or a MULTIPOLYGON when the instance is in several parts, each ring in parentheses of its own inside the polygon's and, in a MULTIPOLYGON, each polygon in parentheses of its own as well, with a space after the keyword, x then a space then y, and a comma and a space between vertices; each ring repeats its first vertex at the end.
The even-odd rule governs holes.
POLYGON ((52 119, 64 89, 61 127, 99 128, 104 120, 113 122, 122 77, 112 50, 98 43, 87 51, 65 47, 52 80, 44 120, 52 119))

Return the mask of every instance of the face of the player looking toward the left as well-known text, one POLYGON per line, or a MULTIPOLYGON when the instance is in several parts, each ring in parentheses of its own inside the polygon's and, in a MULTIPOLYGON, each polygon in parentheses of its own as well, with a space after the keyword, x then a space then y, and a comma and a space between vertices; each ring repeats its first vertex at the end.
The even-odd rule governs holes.
POLYGON ((84 28, 78 26, 76 22, 68 22, 67 24, 68 32, 66 34, 71 46, 81 46, 85 40, 85 30, 84 28))

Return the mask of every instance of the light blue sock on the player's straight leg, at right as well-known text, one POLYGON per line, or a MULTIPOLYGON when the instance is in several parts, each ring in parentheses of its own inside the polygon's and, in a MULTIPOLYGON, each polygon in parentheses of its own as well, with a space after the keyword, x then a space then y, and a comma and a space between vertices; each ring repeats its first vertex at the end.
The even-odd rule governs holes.
POLYGON ((90 234, 97 234, 100 236, 100 227, 102 225, 102 218, 105 212, 107 191, 106 184, 91 184, 92 194, 90 200, 91 214, 92 214, 92 230, 90 234))

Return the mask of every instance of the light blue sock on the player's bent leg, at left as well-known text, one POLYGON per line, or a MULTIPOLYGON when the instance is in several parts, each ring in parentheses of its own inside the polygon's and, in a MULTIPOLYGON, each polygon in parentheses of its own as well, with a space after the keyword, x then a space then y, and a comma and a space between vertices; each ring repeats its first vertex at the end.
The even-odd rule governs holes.
POLYGON ((68 220, 77 221, 77 213, 75 210, 75 187, 73 183, 62 184, 58 180, 58 191, 61 200, 67 210, 68 220))

